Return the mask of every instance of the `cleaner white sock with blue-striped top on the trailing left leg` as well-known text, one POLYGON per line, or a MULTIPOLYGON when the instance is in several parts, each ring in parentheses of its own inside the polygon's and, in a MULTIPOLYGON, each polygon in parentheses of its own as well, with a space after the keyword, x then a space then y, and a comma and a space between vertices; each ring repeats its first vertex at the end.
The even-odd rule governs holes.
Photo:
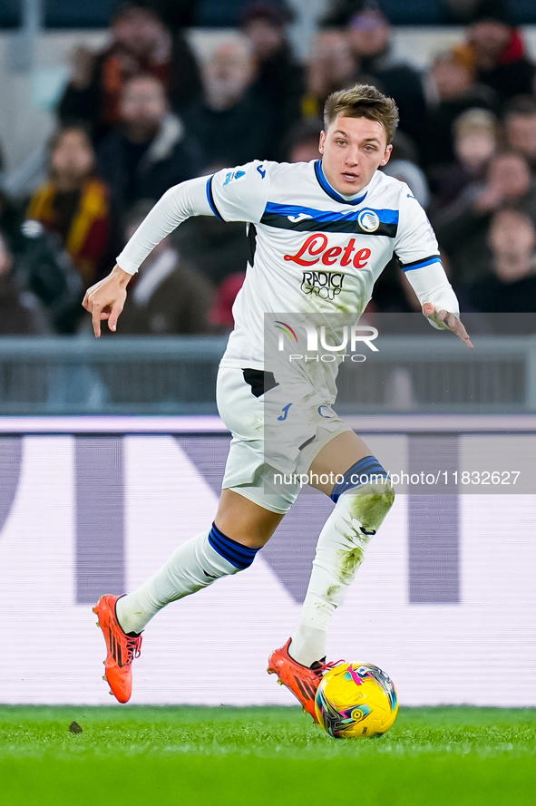
MULTIPOLYGON (((207 588, 215 579, 242 570, 212 548, 209 537, 213 535, 213 530, 214 526, 210 531, 188 540, 141 588, 118 599, 115 609, 125 633, 141 633, 155 613, 170 602, 189 596, 200 588, 207 588)), ((233 544, 225 535, 221 537, 233 544)), ((234 543, 234 546, 238 544, 234 543)), ((242 548, 245 552, 254 551, 242 548)))

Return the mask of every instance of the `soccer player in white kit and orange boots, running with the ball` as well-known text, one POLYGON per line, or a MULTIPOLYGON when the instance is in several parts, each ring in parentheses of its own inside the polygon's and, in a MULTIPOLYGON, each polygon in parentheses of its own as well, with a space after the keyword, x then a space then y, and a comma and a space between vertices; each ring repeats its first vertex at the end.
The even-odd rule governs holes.
MULTIPOLYGON (((122 703, 132 693, 141 631, 170 602, 251 565, 299 491, 292 480, 267 487, 268 476, 273 480, 275 470, 293 470, 308 472, 313 486, 335 506, 317 542, 296 630, 270 655, 268 672, 278 675, 315 718, 315 693, 329 667, 330 618, 395 494, 380 462, 332 408, 341 357, 326 364, 297 360, 285 371, 288 383, 279 377, 280 361, 265 363, 270 316, 280 325, 281 311, 299 312, 304 322, 307 316, 326 322, 350 312, 356 322, 395 253, 424 316, 473 346, 424 210, 407 185, 377 170, 389 160, 397 122, 395 102, 374 87, 358 84, 333 93, 326 102, 321 160, 256 160, 171 188, 109 277, 84 297, 95 335, 101 334, 102 320, 115 331, 132 275, 182 221, 216 216, 249 227, 252 254, 218 375, 219 413, 233 438, 215 520, 141 588, 126 596, 103 596, 94 608, 108 650, 105 679, 122 703)), ((336 333, 336 325, 331 330, 336 333)))

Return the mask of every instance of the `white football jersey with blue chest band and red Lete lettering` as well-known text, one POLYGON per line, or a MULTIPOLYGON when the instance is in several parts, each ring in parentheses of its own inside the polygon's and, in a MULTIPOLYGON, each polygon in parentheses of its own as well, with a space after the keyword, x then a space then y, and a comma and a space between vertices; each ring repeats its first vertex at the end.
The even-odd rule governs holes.
POLYGON ((133 273, 180 221, 210 214, 246 222, 251 242, 222 365, 265 368, 265 314, 344 313, 356 322, 394 253, 422 304, 458 312, 434 231, 408 186, 378 170, 347 198, 327 182, 322 160, 255 160, 171 188, 117 258, 119 266, 133 273))

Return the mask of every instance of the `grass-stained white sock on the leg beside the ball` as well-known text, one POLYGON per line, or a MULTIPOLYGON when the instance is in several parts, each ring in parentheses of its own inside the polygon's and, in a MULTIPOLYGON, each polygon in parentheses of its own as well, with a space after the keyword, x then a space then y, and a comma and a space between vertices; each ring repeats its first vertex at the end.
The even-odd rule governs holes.
POLYGON ((327 627, 363 562, 365 549, 391 508, 389 482, 346 490, 336 502, 317 542, 317 552, 299 622, 289 647, 310 666, 326 655, 327 627))

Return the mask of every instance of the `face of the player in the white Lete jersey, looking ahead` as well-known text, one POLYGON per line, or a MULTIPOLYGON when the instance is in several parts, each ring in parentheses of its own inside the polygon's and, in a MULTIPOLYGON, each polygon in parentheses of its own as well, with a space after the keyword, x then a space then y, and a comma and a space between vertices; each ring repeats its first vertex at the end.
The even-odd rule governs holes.
POLYGON ((320 135, 326 180, 345 196, 365 188, 375 170, 387 164, 392 150, 384 125, 367 118, 339 115, 320 135))

